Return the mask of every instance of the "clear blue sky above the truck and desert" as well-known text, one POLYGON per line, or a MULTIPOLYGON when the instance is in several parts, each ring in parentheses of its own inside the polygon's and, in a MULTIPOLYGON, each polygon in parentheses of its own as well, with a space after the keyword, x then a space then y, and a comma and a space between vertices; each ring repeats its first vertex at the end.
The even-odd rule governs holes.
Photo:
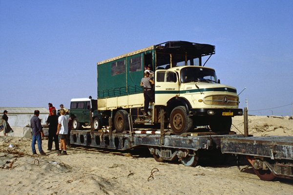
POLYGON ((216 46, 206 66, 247 88, 249 114, 290 116, 292 10, 292 0, 0 0, 0 106, 96 98, 97 62, 187 40, 216 46))

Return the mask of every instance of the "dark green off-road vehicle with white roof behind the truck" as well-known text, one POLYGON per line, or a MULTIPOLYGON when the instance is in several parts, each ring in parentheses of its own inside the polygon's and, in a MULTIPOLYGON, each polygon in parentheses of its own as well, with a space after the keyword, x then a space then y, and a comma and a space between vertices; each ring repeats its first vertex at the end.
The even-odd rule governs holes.
POLYGON ((73 98, 70 101, 69 117, 72 118, 73 130, 91 126, 93 129, 100 127, 100 117, 97 113, 97 99, 73 98))

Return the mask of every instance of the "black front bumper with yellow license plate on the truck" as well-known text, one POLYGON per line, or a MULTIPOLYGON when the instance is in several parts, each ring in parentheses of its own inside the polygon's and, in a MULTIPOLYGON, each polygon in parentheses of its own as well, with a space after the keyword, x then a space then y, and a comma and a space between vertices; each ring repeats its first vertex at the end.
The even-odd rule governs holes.
POLYGON ((242 116, 242 109, 222 109, 222 108, 199 108, 199 109, 189 109, 190 116, 224 116, 224 117, 234 117, 242 116))

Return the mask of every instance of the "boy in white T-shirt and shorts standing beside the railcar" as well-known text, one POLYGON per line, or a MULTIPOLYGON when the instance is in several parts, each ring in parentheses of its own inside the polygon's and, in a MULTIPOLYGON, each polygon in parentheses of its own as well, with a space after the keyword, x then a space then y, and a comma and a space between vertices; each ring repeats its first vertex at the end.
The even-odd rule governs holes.
POLYGON ((64 109, 60 109, 60 114, 61 116, 58 118, 58 127, 56 133, 56 135, 60 134, 60 148, 58 155, 67 155, 65 139, 68 134, 68 118, 65 116, 64 109))

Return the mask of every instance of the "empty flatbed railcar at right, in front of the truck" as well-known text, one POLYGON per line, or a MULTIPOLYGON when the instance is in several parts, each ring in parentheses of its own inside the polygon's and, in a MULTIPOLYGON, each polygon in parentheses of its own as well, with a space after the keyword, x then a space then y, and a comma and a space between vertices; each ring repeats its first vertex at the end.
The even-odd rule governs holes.
POLYGON ((262 180, 293 179, 293 137, 223 137, 221 151, 246 156, 262 180))

